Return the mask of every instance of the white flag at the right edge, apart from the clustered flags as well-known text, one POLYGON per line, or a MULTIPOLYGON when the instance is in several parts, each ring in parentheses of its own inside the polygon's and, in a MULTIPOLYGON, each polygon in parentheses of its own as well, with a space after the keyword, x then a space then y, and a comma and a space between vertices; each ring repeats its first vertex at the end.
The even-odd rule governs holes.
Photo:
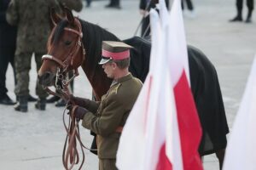
POLYGON ((256 169, 256 55, 224 157, 224 170, 256 169))

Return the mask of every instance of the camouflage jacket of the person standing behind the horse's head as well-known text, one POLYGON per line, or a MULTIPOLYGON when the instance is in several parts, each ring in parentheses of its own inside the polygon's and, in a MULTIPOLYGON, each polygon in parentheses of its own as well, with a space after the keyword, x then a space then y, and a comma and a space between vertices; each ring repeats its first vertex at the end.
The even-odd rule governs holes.
MULTIPOLYGON (((66 1, 11 0, 7 9, 6 20, 11 26, 18 26, 15 54, 46 53, 50 32, 49 10, 50 8, 60 8, 59 3, 66 1)), ((81 2, 81 0, 69 0, 66 3, 70 8, 80 10, 82 3, 77 2, 81 2)))

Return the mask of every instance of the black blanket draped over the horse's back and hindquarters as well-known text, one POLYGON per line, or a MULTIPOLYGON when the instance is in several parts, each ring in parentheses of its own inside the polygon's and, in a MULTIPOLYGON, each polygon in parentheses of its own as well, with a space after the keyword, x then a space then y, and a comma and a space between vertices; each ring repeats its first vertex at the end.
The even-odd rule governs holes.
MULTIPOLYGON (((134 47, 131 49, 130 71, 144 82, 149 69, 151 42, 141 37, 124 42, 134 47)), ((203 130, 199 153, 204 156, 226 147, 229 127, 214 66, 197 48, 188 46, 188 54, 191 90, 203 130)))

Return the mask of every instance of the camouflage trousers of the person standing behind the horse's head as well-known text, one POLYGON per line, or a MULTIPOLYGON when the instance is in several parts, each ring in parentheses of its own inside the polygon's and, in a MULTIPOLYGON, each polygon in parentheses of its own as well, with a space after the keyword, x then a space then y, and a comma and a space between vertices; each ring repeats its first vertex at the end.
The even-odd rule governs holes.
MULTIPOLYGON (((42 55, 35 54, 37 64, 37 72, 42 65, 42 55)), ((15 86, 15 94, 17 96, 26 96, 29 94, 29 71, 31 69, 32 53, 15 54, 15 69, 17 84, 15 86)), ((47 92, 38 84, 36 86, 36 94, 39 98, 46 98, 47 92)))

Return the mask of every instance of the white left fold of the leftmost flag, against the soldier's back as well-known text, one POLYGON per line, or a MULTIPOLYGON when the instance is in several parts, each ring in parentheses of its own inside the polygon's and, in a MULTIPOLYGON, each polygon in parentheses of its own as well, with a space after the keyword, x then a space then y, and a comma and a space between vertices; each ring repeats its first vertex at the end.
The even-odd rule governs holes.
POLYGON ((149 77, 147 77, 143 89, 133 106, 133 111, 131 111, 126 121, 126 125, 133 126, 125 126, 123 129, 122 137, 119 141, 119 146, 123 147, 119 147, 117 152, 117 167, 119 167, 119 169, 143 169, 141 162, 143 162, 143 157, 145 156, 145 143, 147 142, 144 135, 147 115, 143 113, 146 113, 147 108, 142 107, 142 105, 147 105, 145 99, 148 98, 148 82, 149 77), (135 152, 131 152, 131 150, 135 150, 135 152))

